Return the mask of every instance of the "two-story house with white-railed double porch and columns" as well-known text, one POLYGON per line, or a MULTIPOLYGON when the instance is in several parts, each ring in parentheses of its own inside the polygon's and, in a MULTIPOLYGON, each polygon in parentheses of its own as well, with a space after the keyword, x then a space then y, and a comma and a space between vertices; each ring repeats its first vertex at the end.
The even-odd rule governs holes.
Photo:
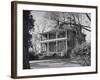
MULTIPOLYGON (((68 24, 59 27, 41 35, 41 52, 46 56, 56 54, 58 56, 67 55, 68 49, 73 49, 76 45, 76 31, 68 24)), ((85 41, 85 34, 81 34, 82 41, 85 41)))

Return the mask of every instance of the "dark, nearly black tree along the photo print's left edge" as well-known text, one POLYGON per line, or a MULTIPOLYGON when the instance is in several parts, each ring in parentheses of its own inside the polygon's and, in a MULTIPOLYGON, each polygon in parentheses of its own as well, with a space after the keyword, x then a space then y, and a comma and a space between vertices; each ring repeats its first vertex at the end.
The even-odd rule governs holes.
POLYGON ((23 68, 29 69, 29 47, 31 45, 30 39, 32 36, 30 35, 30 29, 34 29, 34 19, 32 15, 30 15, 30 11, 23 11, 23 68))

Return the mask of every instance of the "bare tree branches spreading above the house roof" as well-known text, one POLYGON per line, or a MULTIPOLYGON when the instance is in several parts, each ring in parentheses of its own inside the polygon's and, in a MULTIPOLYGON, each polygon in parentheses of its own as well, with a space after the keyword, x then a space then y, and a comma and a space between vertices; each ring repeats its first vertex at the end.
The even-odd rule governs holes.
POLYGON ((80 28, 85 29, 87 31, 91 31, 90 26, 81 24, 82 15, 86 15, 86 18, 91 21, 91 18, 88 13, 46 12, 44 17, 53 20, 57 26, 59 26, 60 24, 70 24, 70 25, 76 25, 78 27, 81 26, 80 28))

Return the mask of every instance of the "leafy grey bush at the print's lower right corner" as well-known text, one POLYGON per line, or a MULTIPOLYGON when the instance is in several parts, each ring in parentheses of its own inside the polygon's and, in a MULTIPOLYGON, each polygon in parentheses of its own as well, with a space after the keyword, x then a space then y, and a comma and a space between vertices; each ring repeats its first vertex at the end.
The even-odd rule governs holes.
POLYGON ((78 59, 77 61, 83 66, 91 65, 91 46, 90 43, 82 43, 81 45, 76 45, 71 52, 71 58, 78 59))

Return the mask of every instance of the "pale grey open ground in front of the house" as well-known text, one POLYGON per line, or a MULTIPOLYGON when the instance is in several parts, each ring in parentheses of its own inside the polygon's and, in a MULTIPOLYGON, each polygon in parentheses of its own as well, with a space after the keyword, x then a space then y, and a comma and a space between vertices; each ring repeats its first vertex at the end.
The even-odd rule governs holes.
POLYGON ((56 68, 56 67, 80 67, 81 65, 72 59, 51 59, 30 61, 31 69, 38 68, 56 68))

